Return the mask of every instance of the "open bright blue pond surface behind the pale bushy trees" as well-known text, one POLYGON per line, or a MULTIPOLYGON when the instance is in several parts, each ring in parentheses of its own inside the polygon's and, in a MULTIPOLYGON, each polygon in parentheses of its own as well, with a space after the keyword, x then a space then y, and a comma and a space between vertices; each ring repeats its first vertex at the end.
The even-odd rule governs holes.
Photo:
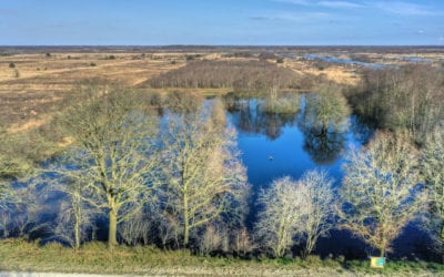
POLYGON ((371 132, 354 116, 344 116, 346 127, 320 134, 304 125, 306 99, 294 113, 262 111, 263 100, 238 100, 228 109, 229 120, 238 131, 238 146, 255 191, 274 178, 290 175, 299 178, 305 171, 325 170, 340 184, 343 153, 350 146, 360 147, 371 132), (362 130, 363 134, 356 133, 362 130), (356 132, 353 132, 356 131, 356 132))

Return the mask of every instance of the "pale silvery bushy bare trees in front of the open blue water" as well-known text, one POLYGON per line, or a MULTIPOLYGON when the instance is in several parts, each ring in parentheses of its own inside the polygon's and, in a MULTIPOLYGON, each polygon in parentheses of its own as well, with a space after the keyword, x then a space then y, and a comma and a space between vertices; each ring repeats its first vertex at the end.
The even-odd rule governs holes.
POLYGON ((299 239, 304 244, 302 257, 316 246, 317 238, 329 234, 332 225, 333 179, 325 172, 306 172, 299 181, 276 179, 262 191, 259 202, 256 234, 265 248, 282 257, 299 239))

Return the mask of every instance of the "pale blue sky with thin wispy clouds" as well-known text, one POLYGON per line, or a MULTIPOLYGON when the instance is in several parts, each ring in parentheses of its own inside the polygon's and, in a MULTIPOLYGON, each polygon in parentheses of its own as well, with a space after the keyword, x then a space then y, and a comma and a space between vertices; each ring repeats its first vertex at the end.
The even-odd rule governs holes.
POLYGON ((444 0, 0 0, 0 45, 444 45, 444 0))

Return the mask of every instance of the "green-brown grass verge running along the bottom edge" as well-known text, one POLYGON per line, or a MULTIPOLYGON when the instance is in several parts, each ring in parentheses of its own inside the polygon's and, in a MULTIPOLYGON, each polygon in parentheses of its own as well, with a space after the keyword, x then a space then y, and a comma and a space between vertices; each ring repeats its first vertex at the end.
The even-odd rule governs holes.
POLYGON ((223 275, 223 276, 363 276, 444 275, 444 266, 424 261, 390 261, 384 270, 369 268, 369 261, 321 259, 252 259, 193 256, 188 250, 161 250, 154 246, 119 246, 89 243, 78 252, 59 244, 40 246, 23 239, 0 240, 0 271, 52 271, 131 275, 223 275))

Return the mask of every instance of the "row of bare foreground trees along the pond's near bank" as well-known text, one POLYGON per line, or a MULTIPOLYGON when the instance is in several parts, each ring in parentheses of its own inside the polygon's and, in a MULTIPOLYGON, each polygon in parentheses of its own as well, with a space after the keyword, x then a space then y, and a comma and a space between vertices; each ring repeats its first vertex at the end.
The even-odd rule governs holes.
MULTIPOLYGON (((29 166, 17 166, 20 160, 8 163, 20 150, 0 153, 4 237, 56 239, 79 248, 102 236, 110 248, 155 244, 240 257, 283 257, 297 246, 306 257, 320 237, 339 228, 385 256, 410 222, 427 215, 425 229, 443 253, 442 129, 421 151, 405 136, 376 133, 366 146, 347 151, 339 189, 316 170, 300 179, 275 179, 260 192, 258 222, 249 229, 251 188, 221 101, 203 104, 174 93, 160 119, 150 95, 109 85, 78 90, 79 98, 52 123, 52 136, 63 137, 63 147, 33 168, 31 178, 29 166), (17 183, 21 174, 28 177, 17 183)), ((323 109, 327 103, 311 95, 307 105, 304 116, 320 119, 312 120, 319 122, 316 132, 342 129, 347 109, 329 122, 323 121, 333 112, 323 109)), ((1 144, 11 143, 10 136, 1 133, 1 144)))

